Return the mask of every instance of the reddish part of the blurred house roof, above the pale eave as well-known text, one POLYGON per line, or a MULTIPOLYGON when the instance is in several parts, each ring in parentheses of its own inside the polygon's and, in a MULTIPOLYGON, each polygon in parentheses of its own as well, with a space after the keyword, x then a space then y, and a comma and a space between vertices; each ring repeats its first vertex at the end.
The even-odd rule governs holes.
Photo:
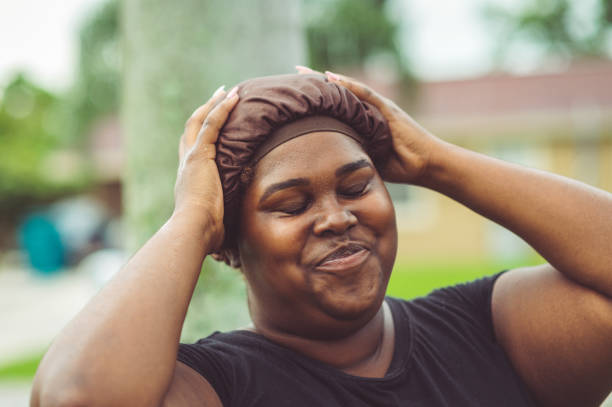
POLYGON ((559 72, 424 82, 418 103, 424 116, 570 111, 596 106, 612 107, 612 61, 583 62, 559 72))

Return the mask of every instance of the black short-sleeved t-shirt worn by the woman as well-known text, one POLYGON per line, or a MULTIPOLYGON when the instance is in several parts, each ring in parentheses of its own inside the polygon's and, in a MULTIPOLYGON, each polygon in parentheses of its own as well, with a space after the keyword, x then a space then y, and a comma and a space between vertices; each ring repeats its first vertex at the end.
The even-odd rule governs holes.
POLYGON ((395 350, 383 378, 344 373, 250 331, 181 344, 178 360, 233 406, 533 406, 495 341, 499 275, 404 301, 387 297, 395 350))

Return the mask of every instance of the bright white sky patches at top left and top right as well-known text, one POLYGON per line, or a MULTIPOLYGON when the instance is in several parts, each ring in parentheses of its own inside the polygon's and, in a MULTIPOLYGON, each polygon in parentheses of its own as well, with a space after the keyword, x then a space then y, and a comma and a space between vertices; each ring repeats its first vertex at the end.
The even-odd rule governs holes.
MULTIPOLYGON (((0 85, 24 70, 43 86, 67 88, 78 58, 78 29, 103 1, 0 1, 0 85)), ((489 68, 491 35, 479 15, 487 1, 520 0, 394 0, 409 22, 404 42, 419 76, 456 78, 489 68)))

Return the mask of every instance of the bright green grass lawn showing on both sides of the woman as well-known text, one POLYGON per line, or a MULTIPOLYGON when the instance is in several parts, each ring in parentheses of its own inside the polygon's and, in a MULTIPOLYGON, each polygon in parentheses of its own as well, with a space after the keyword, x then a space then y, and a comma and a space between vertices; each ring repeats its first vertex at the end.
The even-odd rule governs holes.
MULTIPOLYGON (((492 260, 416 261, 396 264, 387 294, 399 298, 414 298, 451 284, 474 280, 498 271, 537 264, 538 259, 500 263, 492 260)), ((31 380, 44 352, 37 352, 21 360, 0 366, 0 381, 31 380)))

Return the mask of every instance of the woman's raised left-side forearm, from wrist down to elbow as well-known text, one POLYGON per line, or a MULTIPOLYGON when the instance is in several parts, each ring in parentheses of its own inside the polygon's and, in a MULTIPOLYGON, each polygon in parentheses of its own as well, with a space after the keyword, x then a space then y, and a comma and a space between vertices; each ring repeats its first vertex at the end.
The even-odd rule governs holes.
POLYGON ((170 382, 209 235, 173 217, 61 332, 32 405, 152 405, 170 382), (86 397, 83 400, 83 397, 86 397))

